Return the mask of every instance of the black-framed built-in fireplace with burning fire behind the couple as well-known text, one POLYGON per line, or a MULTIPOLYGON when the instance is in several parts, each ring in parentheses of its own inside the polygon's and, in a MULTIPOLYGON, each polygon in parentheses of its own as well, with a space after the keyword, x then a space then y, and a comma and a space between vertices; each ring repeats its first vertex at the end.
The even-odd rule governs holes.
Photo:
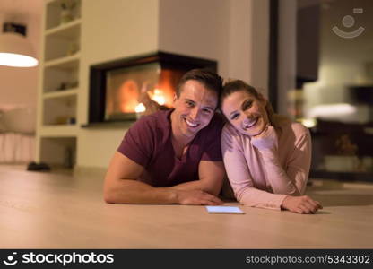
POLYGON ((171 108, 180 78, 194 68, 216 72, 216 61, 157 52, 90 68, 89 125, 135 120, 171 108))

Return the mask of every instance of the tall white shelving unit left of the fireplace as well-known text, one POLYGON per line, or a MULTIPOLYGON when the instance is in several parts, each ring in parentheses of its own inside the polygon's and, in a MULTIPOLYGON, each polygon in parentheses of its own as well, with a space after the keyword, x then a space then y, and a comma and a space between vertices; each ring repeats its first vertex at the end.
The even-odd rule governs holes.
POLYGON ((83 0, 46 0, 40 58, 37 161, 73 169, 79 127, 83 0))

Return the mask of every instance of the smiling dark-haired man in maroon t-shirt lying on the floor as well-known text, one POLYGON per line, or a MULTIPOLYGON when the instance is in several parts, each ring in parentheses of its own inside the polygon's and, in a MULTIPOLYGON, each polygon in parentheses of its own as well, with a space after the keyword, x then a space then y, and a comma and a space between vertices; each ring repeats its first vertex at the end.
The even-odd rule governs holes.
POLYGON ((142 117, 110 161, 104 199, 113 204, 222 204, 225 175, 221 117, 215 114, 221 77, 187 72, 174 108, 142 117))

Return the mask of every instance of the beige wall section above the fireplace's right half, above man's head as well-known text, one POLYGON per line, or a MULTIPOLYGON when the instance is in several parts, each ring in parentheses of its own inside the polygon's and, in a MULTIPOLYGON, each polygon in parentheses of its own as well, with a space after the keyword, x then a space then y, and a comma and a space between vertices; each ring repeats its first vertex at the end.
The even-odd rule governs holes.
POLYGON ((218 61, 228 74, 230 1, 160 0, 159 48, 218 61))

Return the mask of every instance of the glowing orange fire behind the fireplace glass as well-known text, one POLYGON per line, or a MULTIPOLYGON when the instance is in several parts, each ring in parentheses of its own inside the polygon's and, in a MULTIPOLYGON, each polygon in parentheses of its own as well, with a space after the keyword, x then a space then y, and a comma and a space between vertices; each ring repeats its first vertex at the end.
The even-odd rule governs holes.
POLYGON ((162 69, 160 63, 108 71, 105 120, 126 119, 134 113, 151 114, 170 108, 184 70, 162 69))

